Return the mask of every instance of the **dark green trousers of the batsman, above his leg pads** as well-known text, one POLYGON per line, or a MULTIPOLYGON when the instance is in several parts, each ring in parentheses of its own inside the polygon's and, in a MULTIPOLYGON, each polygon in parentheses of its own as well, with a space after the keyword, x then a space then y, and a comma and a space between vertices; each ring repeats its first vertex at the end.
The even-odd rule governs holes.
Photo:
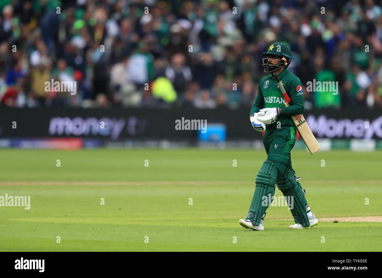
POLYGON ((263 138, 267 160, 275 163, 278 175, 284 173, 285 167, 295 173, 292 168, 290 151, 296 143, 296 127, 283 126, 282 128, 266 129, 263 138))

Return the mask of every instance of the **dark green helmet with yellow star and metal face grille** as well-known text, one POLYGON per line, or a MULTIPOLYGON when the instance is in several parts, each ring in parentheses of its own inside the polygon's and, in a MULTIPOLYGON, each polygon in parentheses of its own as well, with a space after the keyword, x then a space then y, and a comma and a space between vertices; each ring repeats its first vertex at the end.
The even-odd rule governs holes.
POLYGON ((267 58, 263 58, 262 65, 264 66, 264 71, 266 73, 270 73, 272 71, 275 71, 279 68, 286 68, 289 66, 290 61, 292 59, 292 53, 290 51, 290 48, 288 45, 283 44, 281 42, 275 42, 274 44, 271 44, 268 47, 268 51, 263 53, 267 58), (269 58, 269 55, 277 55, 280 57, 280 59, 271 59, 269 58), (272 63, 268 63, 269 60, 275 60, 278 61, 277 65, 274 65, 272 63))

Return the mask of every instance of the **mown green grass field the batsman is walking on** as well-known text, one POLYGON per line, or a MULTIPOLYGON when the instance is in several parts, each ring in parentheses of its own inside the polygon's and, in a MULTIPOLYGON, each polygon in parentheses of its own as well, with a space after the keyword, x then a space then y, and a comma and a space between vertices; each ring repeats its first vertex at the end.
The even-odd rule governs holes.
MULTIPOLYGON (((29 210, 0 207, 0 251, 382 249, 380 222, 290 230, 287 207, 267 210, 264 231, 242 228, 238 220, 248 213, 265 151, 3 149, 0 155, 0 196, 31 196, 29 210)), ((380 151, 292 152, 317 218, 382 215, 381 157, 380 151)))

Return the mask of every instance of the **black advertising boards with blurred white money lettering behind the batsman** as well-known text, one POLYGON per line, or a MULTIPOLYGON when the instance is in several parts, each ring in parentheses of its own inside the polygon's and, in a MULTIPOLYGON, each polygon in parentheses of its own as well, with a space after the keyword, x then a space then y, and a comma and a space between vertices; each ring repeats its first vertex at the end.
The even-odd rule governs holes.
MULTIPOLYGON (((381 139, 382 113, 367 110, 358 118, 352 110, 309 110, 304 116, 317 138, 381 139)), ((176 129, 176 121, 223 124, 227 139, 261 139, 253 130, 248 109, 0 109, 0 138, 81 137, 118 139, 197 139, 197 130, 176 129), (16 122, 16 128, 13 122, 16 122)))

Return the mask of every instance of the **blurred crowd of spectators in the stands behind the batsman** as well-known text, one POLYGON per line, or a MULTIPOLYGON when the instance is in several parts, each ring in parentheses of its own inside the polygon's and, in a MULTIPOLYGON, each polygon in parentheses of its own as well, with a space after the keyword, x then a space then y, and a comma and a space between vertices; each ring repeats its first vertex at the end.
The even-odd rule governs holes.
POLYGON ((382 107, 378 0, 1 0, 0 98, 12 107, 251 107, 272 42, 305 108, 382 107), (76 94, 46 81, 75 81, 76 94), (338 81, 338 94, 307 82, 338 81))

